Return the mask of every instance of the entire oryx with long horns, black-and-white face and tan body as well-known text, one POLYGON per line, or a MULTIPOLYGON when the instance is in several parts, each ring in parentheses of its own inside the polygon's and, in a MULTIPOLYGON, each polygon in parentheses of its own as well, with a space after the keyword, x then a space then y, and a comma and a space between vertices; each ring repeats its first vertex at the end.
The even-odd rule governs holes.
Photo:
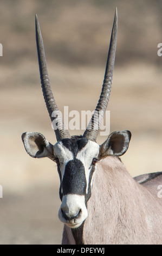
MULTIPOLYGON (((108 105, 116 40, 117 11, 95 113, 105 113, 108 105)), ((57 143, 52 145, 38 132, 25 132, 22 140, 30 156, 49 157, 57 163, 62 202, 59 218, 64 223, 62 243, 162 243, 162 198, 158 197, 162 172, 133 179, 119 159, 128 149, 131 132, 113 132, 102 145, 96 143, 103 115, 92 116, 83 136, 70 136, 60 115, 54 114, 59 109, 48 78, 37 15, 36 42, 44 100, 51 121, 58 127, 57 143)))

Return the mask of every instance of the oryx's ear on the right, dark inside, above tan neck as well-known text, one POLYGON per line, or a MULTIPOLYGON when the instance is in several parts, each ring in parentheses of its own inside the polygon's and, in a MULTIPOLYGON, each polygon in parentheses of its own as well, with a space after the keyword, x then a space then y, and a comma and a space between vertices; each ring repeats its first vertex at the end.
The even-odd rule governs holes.
POLYGON ((100 159, 108 155, 122 156, 128 149, 130 139, 131 132, 129 131, 112 132, 107 140, 100 145, 100 159))

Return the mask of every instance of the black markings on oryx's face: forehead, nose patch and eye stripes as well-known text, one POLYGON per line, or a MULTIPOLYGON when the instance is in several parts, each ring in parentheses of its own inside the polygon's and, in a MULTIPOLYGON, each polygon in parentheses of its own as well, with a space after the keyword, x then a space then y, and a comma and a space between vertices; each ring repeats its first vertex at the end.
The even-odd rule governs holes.
POLYGON ((72 136, 72 138, 62 139, 62 144, 70 152, 72 152, 74 159, 70 160, 64 169, 63 179, 61 178, 60 165, 57 164, 58 172, 60 175, 60 199, 66 194, 79 194, 85 195, 85 203, 87 204, 91 196, 91 186, 92 176, 95 170, 95 165, 91 164, 89 167, 89 181, 87 185, 85 176, 85 167, 83 163, 76 159, 77 154, 82 150, 88 143, 87 138, 82 138, 82 136, 72 136), (86 194, 86 187, 88 186, 88 193, 86 194))

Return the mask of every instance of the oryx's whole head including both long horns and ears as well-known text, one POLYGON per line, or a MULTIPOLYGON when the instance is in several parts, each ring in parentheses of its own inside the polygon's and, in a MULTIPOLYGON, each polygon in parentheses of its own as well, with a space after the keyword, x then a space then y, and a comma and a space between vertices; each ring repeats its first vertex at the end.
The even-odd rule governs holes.
MULTIPOLYGON (((102 92, 95 113, 102 110, 104 114, 111 92, 117 40, 117 11, 114 17, 111 42, 109 46, 105 78, 102 92)), ((41 133, 25 132, 22 135, 24 147, 32 157, 49 157, 57 163, 60 176, 60 199, 62 201, 59 218, 71 228, 79 227, 88 216, 87 202, 91 195, 93 174, 97 163, 108 155, 121 156, 128 148, 131 133, 129 131, 113 132, 102 144, 96 143, 102 116, 94 114, 83 136, 70 136, 64 127, 57 108, 48 78, 46 57, 40 26, 36 16, 36 42, 40 66, 41 84, 44 100, 51 118, 58 129, 55 130, 57 143, 52 145, 41 133), (97 128, 96 128, 97 127, 97 128)))

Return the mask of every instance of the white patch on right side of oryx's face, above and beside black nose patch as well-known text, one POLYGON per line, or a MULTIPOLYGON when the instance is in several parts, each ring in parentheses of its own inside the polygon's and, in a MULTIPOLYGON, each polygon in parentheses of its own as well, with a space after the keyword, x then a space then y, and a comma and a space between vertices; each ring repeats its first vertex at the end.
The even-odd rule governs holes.
MULTIPOLYGON (((86 146, 82 148, 82 150, 80 150, 76 156, 76 159, 79 159, 85 167, 85 175, 86 175, 86 181, 87 181, 86 193, 88 193, 90 166, 92 164, 92 160, 98 157, 99 150, 100 150, 100 146, 96 142, 88 141, 86 146)), ((92 180, 93 180, 93 177, 92 177, 92 180)))

